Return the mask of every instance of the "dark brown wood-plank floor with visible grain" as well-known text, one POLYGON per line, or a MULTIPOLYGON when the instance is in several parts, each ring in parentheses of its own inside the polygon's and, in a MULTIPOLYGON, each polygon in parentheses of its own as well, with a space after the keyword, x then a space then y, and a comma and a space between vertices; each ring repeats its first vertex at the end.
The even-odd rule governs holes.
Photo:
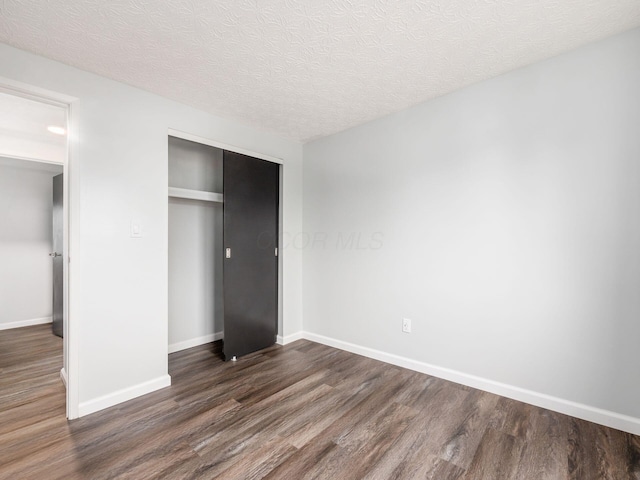
POLYGON ((61 340, 0 331, 2 479, 640 479, 640 437, 305 340, 67 421, 61 340))

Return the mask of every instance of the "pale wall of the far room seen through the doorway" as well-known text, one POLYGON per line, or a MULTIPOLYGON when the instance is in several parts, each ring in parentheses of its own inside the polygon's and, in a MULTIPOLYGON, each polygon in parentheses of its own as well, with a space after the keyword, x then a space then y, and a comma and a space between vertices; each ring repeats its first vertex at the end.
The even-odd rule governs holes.
POLYGON ((0 157, 0 329, 51 321, 52 177, 61 166, 0 157))

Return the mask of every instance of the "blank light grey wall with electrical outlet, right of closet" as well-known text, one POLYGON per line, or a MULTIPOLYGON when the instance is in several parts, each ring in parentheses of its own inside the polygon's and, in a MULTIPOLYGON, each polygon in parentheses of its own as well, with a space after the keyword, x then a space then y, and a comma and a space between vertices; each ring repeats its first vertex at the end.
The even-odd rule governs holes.
POLYGON ((639 86, 636 29, 305 145, 305 331, 640 432, 639 86))

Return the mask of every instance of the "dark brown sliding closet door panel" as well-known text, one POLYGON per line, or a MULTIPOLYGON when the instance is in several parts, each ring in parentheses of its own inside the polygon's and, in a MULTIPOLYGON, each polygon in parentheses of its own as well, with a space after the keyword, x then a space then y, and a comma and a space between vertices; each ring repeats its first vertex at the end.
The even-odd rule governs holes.
POLYGON ((224 152, 226 360, 276 340, 279 178, 278 164, 224 152))

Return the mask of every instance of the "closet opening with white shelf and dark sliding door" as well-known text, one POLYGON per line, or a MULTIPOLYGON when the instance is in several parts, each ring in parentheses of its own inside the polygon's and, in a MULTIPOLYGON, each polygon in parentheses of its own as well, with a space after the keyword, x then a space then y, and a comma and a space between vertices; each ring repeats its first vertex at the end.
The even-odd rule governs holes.
POLYGON ((236 360, 276 343, 280 164, 232 149, 169 134, 169 353, 221 341, 236 360))

